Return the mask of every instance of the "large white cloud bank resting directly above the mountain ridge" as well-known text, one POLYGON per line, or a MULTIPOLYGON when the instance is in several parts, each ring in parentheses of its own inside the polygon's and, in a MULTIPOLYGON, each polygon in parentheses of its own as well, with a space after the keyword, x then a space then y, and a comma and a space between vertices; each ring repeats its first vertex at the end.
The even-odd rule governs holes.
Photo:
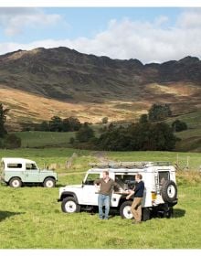
POLYGON ((114 19, 105 31, 93 38, 48 39, 26 45, 8 43, 0 46, 0 53, 18 48, 64 46, 87 54, 109 56, 112 59, 140 59, 143 63, 182 59, 188 55, 201 58, 200 9, 198 11, 186 10, 178 16, 174 27, 165 26, 166 21, 168 19, 165 16, 156 17, 152 23, 132 21, 126 18, 121 21, 114 19))

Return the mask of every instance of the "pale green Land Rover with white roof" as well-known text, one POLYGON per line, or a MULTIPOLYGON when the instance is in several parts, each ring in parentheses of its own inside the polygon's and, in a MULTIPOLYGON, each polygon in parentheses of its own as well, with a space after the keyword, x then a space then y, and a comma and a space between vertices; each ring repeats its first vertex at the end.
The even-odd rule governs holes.
POLYGON ((23 184, 42 184, 43 187, 55 187, 57 173, 37 167, 36 162, 25 158, 2 158, 1 180, 10 187, 21 187, 23 184))

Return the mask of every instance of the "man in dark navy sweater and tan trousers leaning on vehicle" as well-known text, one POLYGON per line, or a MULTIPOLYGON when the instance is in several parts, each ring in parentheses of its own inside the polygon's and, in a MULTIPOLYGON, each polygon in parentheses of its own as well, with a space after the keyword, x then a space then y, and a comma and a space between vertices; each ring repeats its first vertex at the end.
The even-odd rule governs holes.
POLYGON ((130 191, 130 195, 126 197, 126 199, 129 199, 134 194, 134 199, 132 202, 132 216, 135 220, 132 221, 132 224, 139 224, 142 220, 142 201, 144 190, 144 183, 142 178, 143 176, 141 174, 137 174, 135 176, 137 183, 134 189, 130 191))

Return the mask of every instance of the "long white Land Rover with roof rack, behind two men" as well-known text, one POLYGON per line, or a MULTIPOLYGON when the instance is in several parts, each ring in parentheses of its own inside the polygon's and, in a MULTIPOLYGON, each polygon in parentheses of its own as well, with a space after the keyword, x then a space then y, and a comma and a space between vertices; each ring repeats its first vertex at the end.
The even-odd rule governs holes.
POLYGON ((112 191, 111 209, 119 210, 124 219, 132 219, 132 199, 126 199, 127 189, 135 184, 135 176, 140 173, 143 176, 143 220, 153 216, 173 216, 173 207, 177 204, 177 187, 175 182, 175 167, 167 162, 121 162, 90 164, 81 185, 59 188, 61 209, 66 213, 79 212, 81 208, 91 210, 98 208, 99 191, 94 186, 94 180, 102 175, 102 171, 108 170, 110 177, 121 187, 122 191, 112 191))

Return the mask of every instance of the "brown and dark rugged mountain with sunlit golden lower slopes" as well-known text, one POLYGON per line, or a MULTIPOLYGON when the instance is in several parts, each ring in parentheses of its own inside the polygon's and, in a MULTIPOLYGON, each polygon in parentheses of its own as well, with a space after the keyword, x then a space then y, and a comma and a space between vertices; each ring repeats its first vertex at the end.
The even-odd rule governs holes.
POLYGON ((0 98, 10 123, 49 120, 134 120, 154 102, 175 114, 196 111, 201 61, 196 57, 145 64, 79 53, 69 48, 17 50, 0 56, 0 98))

